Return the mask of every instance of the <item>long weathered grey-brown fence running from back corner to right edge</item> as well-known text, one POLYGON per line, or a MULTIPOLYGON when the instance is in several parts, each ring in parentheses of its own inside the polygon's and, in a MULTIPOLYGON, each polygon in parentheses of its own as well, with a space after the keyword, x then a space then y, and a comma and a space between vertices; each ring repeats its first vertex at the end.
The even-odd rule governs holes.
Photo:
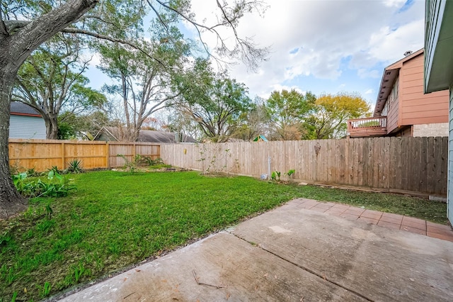
POLYGON ((311 184, 447 194, 448 138, 352 138, 161 145, 167 164, 260 177, 289 169, 311 184), (270 162, 270 168, 269 168, 270 162))

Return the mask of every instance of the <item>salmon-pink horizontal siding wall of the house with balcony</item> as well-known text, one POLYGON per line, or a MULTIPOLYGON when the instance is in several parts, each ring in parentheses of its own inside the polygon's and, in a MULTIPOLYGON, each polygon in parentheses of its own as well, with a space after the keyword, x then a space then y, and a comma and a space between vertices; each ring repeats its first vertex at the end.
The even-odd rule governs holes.
POLYGON ((449 91, 423 94, 423 64, 420 54, 400 69, 399 126, 448 122, 449 91))

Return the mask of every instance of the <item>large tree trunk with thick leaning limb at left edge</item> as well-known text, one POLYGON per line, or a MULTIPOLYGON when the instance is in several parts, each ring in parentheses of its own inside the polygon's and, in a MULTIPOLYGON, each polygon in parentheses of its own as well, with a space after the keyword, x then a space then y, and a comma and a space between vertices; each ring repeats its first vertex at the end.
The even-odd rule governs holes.
POLYGON ((0 218, 26 208, 26 200, 16 190, 9 172, 8 137, 11 91, 19 67, 38 48, 69 24, 77 21, 99 0, 67 1, 59 8, 28 23, 13 35, 0 20, 0 218))

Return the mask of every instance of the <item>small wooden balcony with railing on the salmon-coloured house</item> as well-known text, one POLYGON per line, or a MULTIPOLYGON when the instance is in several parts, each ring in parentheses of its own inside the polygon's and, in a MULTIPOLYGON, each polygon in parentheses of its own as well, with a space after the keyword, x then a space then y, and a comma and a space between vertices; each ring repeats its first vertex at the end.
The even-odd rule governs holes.
POLYGON ((348 136, 350 138, 366 138, 387 134, 387 117, 356 118, 348 120, 348 136))

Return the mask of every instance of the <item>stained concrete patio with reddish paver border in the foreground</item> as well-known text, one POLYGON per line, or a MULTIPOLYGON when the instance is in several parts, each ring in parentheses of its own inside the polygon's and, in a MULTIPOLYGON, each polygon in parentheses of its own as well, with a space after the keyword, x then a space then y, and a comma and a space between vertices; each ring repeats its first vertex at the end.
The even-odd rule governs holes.
POLYGON ((453 301, 451 233, 297 199, 62 301, 453 301))

